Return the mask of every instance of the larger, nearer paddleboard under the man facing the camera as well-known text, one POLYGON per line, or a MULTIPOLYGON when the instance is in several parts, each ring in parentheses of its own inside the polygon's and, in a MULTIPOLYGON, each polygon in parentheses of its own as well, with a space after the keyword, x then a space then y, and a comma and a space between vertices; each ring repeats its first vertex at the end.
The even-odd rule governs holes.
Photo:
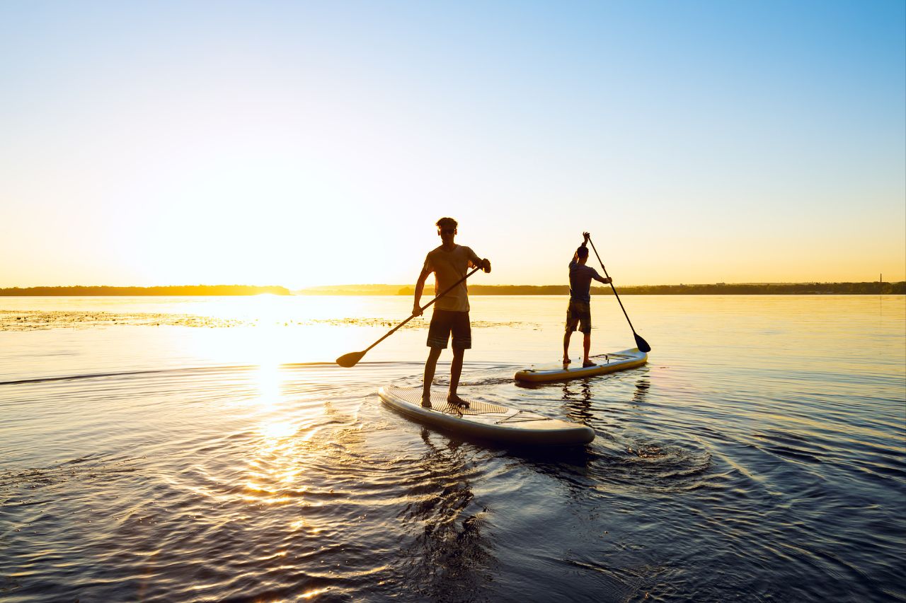
MULTIPOLYGON (((591 427, 525 410, 467 400, 468 408, 447 403, 446 392, 431 392, 431 407, 421 406, 421 389, 386 386, 384 403, 409 418, 463 437, 508 444, 577 445, 594 439, 591 427)), ((467 398, 464 398, 467 399, 467 398)))

